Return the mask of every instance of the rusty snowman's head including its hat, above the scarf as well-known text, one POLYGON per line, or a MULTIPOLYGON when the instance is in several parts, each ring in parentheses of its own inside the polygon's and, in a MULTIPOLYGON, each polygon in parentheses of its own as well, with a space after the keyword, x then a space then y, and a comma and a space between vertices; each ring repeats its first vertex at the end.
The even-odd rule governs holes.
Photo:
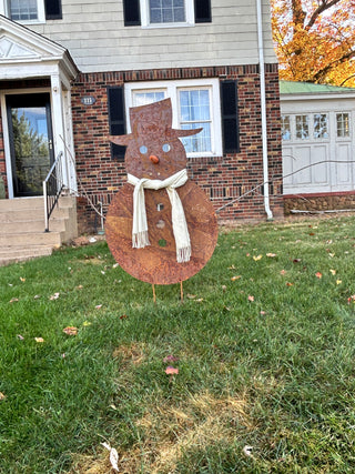
POLYGON ((186 168, 186 153, 180 137, 194 135, 202 129, 172 128, 171 100, 130 109, 132 133, 110 137, 125 145, 126 172, 134 177, 164 180, 186 168))

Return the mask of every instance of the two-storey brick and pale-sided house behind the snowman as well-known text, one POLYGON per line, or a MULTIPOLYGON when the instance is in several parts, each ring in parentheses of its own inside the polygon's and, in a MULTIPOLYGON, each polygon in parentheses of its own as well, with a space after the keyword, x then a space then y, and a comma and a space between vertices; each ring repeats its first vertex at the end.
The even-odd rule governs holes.
POLYGON ((6 200, 41 194, 60 157, 92 230, 91 204, 105 211, 125 181, 106 137, 130 131, 130 107, 170 97, 174 128, 204 129, 184 141, 187 171, 220 220, 283 213, 268 0, 0 0, 0 14, 6 200))

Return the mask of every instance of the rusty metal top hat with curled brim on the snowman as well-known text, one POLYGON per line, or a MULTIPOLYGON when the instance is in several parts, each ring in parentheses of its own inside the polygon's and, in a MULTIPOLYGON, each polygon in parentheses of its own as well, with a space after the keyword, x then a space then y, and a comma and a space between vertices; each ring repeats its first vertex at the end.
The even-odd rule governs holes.
POLYGON ((110 141, 120 145, 128 145, 131 140, 141 135, 152 139, 166 137, 178 139, 200 133, 203 129, 176 130, 172 128, 173 112, 170 99, 153 102, 148 105, 130 108, 130 122, 132 133, 125 135, 110 137, 110 141))

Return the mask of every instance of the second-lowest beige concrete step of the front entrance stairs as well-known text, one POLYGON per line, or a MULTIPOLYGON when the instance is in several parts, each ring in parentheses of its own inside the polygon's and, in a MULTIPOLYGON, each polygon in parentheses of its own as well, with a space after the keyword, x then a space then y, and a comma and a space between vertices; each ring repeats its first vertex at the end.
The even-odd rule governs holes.
POLYGON ((59 248, 64 238, 64 232, 22 232, 8 233, 0 235, 0 249, 4 246, 11 248, 30 248, 38 245, 51 245, 59 248))

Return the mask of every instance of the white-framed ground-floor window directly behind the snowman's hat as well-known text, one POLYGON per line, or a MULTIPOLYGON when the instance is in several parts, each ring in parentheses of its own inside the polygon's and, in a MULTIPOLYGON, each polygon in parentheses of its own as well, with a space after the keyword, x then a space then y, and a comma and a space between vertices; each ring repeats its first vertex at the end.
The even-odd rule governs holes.
POLYGON ((148 104, 168 97, 172 101, 174 129, 203 128, 203 131, 195 135, 181 138, 187 157, 221 157, 219 80, 125 84, 126 117, 130 107, 148 104))

